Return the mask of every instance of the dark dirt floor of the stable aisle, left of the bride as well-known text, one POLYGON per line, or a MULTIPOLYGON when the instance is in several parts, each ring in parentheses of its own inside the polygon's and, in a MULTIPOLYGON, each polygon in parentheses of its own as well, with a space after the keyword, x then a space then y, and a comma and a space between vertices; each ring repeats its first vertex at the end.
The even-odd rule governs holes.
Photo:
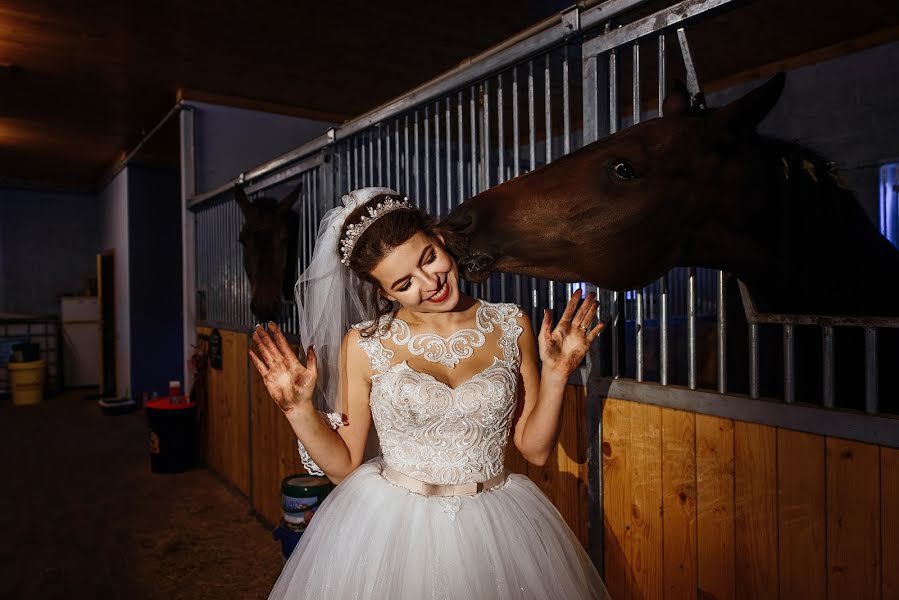
POLYGON ((266 598, 281 547, 210 471, 150 471, 143 411, 0 401, 0 598, 266 598))

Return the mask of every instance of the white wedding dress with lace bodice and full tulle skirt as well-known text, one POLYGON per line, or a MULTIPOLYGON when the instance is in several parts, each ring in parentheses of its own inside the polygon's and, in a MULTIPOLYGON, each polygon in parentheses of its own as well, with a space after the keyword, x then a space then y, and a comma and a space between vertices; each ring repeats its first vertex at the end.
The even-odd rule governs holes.
POLYGON ((559 511, 524 475, 472 496, 424 496, 382 475, 386 464, 457 484, 504 471, 522 318, 514 304, 480 301, 476 328, 449 339, 413 334, 400 319, 388 330, 384 317, 378 333, 360 340, 375 373, 369 401, 382 456, 324 500, 270 599, 608 597, 559 511), (415 361, 483 368, 453 388, 410 366, 415 361))

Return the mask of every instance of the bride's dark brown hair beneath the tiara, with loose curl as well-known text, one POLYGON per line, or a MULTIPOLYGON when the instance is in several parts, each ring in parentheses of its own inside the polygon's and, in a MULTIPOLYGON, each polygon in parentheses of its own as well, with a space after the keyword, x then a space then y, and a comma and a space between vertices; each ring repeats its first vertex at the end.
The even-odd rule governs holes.
MULTIPOLYGON (((377 206, 387 198, 401 200, 402 196, 379 194, 358 206, 343 222, 340 239, 342 240, 346 236, 349 225, 358 224, 362 216, 368 214, 369 207, 377 206)), ((434 217, 413 206, 411 209, 394 210, 377 218, 356 240, 356 245, 350 254, 349 266, 360 278, 372 284, 371 296, 366 298, 366 301, 375 311, 374 322, 361 332, 363 337, 372 335, 377 329, 381 317, 391 314, 395 309, 393 302, 378 293, 381 284, 371 274, 372 270, 394 248, 409 240, 416 233, 421 232, 429 237, 434 237, 437 234, 435 225, 434 217)), ((341 258, 343 257, 340 247, 337 248, 337 253, 341 255, 341 258)))

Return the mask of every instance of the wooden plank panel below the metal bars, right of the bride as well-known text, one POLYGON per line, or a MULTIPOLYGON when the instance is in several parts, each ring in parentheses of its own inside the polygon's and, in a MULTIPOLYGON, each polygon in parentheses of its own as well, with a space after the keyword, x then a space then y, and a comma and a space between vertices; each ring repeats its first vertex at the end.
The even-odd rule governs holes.
POLYGON ((899 450, 606 399, 622 598, 899 598, 899 450))

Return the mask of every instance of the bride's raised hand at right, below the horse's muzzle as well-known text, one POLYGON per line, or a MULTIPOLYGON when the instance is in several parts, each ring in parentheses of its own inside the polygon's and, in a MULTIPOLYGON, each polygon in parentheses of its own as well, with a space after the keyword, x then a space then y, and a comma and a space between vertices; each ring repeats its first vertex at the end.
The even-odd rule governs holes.
POLYGON ((565 377, 581 364, 590 344, 605 327, 600 322, 590 329, 599 302, 596 301, 596 294, 590 292, 578 308, 582 293, 578 289, 571 295, 555 328, 552 327, 552 313, 549 309, 544 309, 543 324, 537 338, 543 368, 549 368, 565 377))

